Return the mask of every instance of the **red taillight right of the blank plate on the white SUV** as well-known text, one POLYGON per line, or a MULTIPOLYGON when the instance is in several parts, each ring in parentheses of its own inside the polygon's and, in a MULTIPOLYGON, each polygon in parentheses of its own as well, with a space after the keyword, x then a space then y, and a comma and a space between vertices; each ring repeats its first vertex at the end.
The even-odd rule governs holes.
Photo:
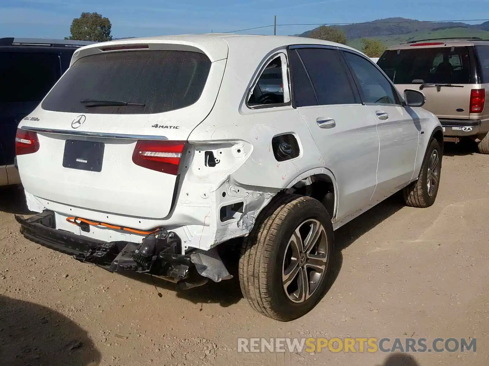
POLYGON ((186 141, 138 140, 133 163, 167 174, 178 174, 178 164, 186 141))

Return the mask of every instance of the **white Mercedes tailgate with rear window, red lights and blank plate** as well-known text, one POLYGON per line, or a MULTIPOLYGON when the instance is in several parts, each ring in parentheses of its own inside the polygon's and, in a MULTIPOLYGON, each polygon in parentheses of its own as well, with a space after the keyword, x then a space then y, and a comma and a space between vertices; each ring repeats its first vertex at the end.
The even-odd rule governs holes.
POLYGON ((183 146, 211 111, 225 66, 195 47, 179 48, 74 62, 19 125, 26 191, 91 210, 166 217, 183 146))

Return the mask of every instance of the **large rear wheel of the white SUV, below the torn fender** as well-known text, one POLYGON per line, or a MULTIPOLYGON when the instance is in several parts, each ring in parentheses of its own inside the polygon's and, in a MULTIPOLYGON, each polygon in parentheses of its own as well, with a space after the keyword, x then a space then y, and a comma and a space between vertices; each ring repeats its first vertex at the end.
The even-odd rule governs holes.
POLYGON ((241 290, 255 310, 288 322, 311 311, 324 294, 333 225, 311 197, 284 195, 264 211, 243 241, 241 290))

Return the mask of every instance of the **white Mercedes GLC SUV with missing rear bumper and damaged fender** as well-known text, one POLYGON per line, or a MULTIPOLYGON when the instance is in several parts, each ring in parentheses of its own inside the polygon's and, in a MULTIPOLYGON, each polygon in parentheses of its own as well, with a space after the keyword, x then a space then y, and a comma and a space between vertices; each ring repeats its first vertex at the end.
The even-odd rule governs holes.
POLYGON ((333 230, 400 190, 434 203, 443 131, 423 103, 327 41, 89 45, 19 124, 39 214, 16 218, 33 242, 182 288, 231 278, 216 246, 241 245, 244 297, 289 321, 325 292, 333 230))

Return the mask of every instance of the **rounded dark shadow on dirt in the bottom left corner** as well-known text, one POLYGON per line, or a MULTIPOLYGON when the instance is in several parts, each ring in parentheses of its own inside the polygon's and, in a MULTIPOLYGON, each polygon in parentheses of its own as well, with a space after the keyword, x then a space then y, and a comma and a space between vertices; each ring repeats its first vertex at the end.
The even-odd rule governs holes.
POLYGON ((0 365, 96 366, 87 332, 47 307, 0 296, 0 365))

